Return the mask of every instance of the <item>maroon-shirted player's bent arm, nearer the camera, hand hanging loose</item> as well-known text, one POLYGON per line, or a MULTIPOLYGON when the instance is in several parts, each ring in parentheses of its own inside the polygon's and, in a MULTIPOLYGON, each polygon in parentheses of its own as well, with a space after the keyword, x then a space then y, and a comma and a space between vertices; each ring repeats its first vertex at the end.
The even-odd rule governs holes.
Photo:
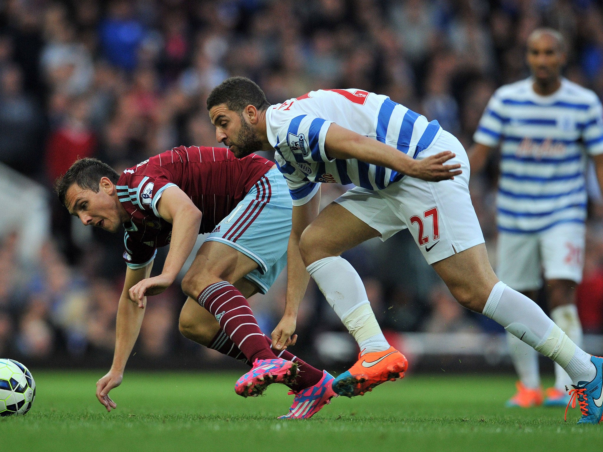
POLYGON ((157 295, 171 286, 191 254, 201 225, 201 211, 193 204, 191 198, 176 186, 163 190, 161 198, 157 201, 157 212, 161 218, 172 224, 172 239, 161 274, 144 279, 131 287, 130 298, 139 304, 145 295, 157 295))

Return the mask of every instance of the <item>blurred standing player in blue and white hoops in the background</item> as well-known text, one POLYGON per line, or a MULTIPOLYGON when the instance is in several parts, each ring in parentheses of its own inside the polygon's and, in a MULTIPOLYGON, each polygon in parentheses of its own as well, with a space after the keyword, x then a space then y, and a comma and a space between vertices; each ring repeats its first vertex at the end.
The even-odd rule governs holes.
MULTIPOLYGON (((500 87, 488 102, 470 162, 474 172, 480 171, 502 143, 497 275, 535 300, 543 269, 551 318, 581 346, 574 288, 582 279, 587 155, 603 183, 601 102, 594 92, 560 76, 566 54, 557 31, 534 31, 527 61, 532 76, 500 87)), ((543 403, 536 352, 511 333, 508 339, 520 378, 508 406, 543 403)), ((546 390, 545 405, 565 406, 571 383, 555 365, 555 386, 546 390)))

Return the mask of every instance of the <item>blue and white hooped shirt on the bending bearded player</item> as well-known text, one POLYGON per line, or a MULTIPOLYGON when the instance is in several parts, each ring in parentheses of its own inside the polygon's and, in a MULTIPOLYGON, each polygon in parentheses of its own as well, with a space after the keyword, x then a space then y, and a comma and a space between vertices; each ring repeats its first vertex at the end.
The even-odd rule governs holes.
POLYGON ((294 206, 308 202, 320 183, 355 184, 381 190, 404 174, 356 159, 329 159, 324 139, 330 124, 379 140, 412 158, 440 135, 437 121, 359 89, 311 91, 266 113, 268 141, 276 149, 276 163, 285 177, 294 206))

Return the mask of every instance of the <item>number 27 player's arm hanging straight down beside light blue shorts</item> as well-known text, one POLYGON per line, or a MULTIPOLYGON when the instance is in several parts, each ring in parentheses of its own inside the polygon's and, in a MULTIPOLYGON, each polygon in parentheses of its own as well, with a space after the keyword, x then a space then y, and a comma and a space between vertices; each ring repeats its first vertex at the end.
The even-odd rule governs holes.
POLYGON ((279 324, 272 332, 272 345, 276 350, 283 350, 288 345, 295 344, 295 327, 297 326, 297 312, 301 300, 306 293, 310 274, 301 259, 300 238, 301 233, 318 216, 320 209, 320 188, 312 198, 301 206, 293 206, 291 235, 287 246, 287 292, 285 312, 279 324))

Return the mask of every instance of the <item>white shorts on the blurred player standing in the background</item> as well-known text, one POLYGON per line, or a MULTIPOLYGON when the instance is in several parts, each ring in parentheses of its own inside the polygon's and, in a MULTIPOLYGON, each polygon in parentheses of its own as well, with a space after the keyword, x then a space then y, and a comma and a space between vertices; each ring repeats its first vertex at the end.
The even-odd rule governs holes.
POLYGON ((582 223, 561 223, 538 233, 500 232, 496 275, 515 290, 537 290, 545 280, 582 281, 582 223))

